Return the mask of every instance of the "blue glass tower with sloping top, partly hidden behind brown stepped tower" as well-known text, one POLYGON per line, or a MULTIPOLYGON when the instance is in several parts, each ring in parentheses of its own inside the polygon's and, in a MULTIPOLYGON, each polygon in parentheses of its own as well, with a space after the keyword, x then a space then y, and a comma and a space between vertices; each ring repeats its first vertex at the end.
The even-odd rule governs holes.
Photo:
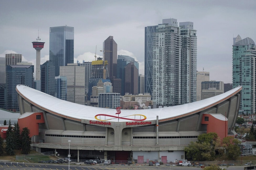
POLYGON ((139 70, 139 62, 135 61, 134 58, 128 56, 128 55, 118 55, 117 56, 117 78, 121 79, 122 81, 122 90, 121 90, 121 95, 124 95, 125 92, 124 88, 125 88, 125 82, 129 81, 125 79, 125 68, 127 66, 127 64, 133 62, 134 66, 139 70))

